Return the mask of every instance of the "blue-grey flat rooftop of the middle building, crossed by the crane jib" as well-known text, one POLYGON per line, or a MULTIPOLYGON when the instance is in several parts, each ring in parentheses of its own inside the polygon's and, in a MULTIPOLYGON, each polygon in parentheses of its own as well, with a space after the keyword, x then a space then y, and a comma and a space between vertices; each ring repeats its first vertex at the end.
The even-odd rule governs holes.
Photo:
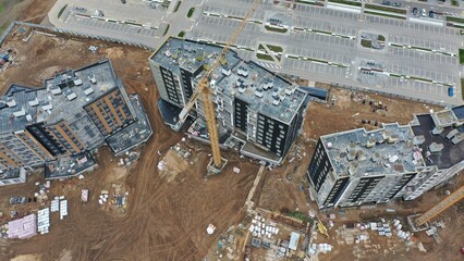
MULTIPOLYGON (((171 37, 151 60, 178 74, 180 66, 205 73, 204 69, 212 64, 221 50, 220 46, 171 37)), ((198 80, 203 73, 195 79, 198 80)), ((284 123, 292 121, 306 98, 297 85, 256 63, 241 60, 233 50, 228 51, 221 65, 211 73, 211 85, 228 97, 245 101, 249 110, 284 123)))

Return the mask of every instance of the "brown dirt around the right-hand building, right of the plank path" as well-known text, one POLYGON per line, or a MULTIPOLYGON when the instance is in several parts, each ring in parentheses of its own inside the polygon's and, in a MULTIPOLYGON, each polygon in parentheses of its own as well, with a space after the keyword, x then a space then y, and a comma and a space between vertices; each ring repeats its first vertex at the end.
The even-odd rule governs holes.
MULTIPOLYGON (((312 102, 309 104, 303 126, 303 135, 298 137, 293 151, 289 153, 288 163, 265 173, 266 175, 259 184, 259 207, 273 211, 282 211, 285 209, 300 210, 303 213, 307 213, 309 209, 317 209, 316 203, 309 200, 307 194, 308 183, 306 171, 319 136, 358 127, 374 129, 380 125, 374 126, 373 123, 363 124, 362 120, 370 120, 371 122, 377 121, 378 123, 399 122, 400 124, 407 124, 413 120, 413 114, 427 113, 430 112, 430 110, 437 111, 441 109, 439 107, 408 100, 393 100, 388 97, 373 94, 359 92, 356 95, 342 89, 330 89, 330 97, 332 96, 335 97, 333 107, 330 105, 330 102, 328 104, 317 102, 312 102), (355 97, 356 101, 353 101, 352 95, 355 97), (365 104, 363 104, 362 97, 366 99, 365 104), (373 112, 371 107, 368 104, 371 99, 377 102, 381 101, 382 104, 388 107, 388 111, 378 110, 373 112), (298 160, 298 156, 301 160, 298 160), (293 161, 292 158, 294 158, 293 161)), ((335 213, 337 219, 334 222, 340 225, 346 222, 371 221, 382 216, 404 217, 412 213, 425 212, 445 197, 444 191, 447 189, 454 191, 460 185, 463 185, 464 178, 461 178, 461 176, 453 182, 454 184, 438 190, 428 191, 423 197, 412 202, 391 202, 389 204, 378 206, 376 209, 346 209, 345 213, 342 215, 339 214, 337 210, 329 210, 322 212, 320 217, 327 221, 326 214, 335 213), (386 209, 394 209, 396 212, 387 213, 386 209)), ((457 260, 461 258, 461 253, 457 252, 457 249, 464 244, 462 240, 462 233, 464 233, 463 211, 463 203, 461 203, 441 214, 440 217, 448 224, 447 228, 440 232, 443 244, 437 245, 431 237, 426 236, 424 233, 417 235, 417 240, 424 243, 425 248, 429 250, 427 253, 419 252, 417 249, 405 251, 403 248, 403 251, 398 251, 394 254, 367 254, 365 260, 373 260, 374 258, 378 260, 392 260, 392 258, 393 260, 404 260, 404 258, 406 258, 406 260, 457 260), (452 217, 450 219, 448 216, 452 217)), ((437 217, 437 220, 438 219, 439 217, 437 217)), ((321 256, 321 260, 355 259, 354 256, 351 257, 352 259, 346 259, 352 252, 353 246, 337 246, 337 243, 333 240, 329 240, 328 243, 335 246, 335 251, 321 256)))

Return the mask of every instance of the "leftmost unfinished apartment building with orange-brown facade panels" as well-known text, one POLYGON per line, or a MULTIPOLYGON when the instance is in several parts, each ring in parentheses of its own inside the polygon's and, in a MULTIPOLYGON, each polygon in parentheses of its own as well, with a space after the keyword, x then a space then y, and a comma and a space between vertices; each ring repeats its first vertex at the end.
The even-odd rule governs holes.
POLYGON ((138 97, 126 95, 108 60, 44 84, 13 85, 0 100, 0 185, 25 182, 25 170, 46 163, 46 177, 77 175, 95 166, 97 147, 120 154, 151 135, 138 97), (53 167, 64 157, 68 165, 53 167))

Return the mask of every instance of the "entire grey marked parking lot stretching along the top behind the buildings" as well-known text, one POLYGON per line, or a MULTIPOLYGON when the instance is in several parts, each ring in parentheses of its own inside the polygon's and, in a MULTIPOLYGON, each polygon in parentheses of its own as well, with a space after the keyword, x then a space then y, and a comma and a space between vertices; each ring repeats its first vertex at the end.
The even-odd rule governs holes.
MULTIPOLYGON (((181 30, 191 39, 225 44, 253 0, 195 0, 188 2, 190 5, 183 1, 179 12, 173 11, 175 0, 168 9, 152 9, 141 0, 127 0, 125 4, 115 0, 58 2, 85 7, 88 9, 85 15, 93 15, 91 12, 98 7, 105 13, 103 17, 86 18, 77 15, 78 12, 71 12, 57 22, 62 23, 60 26, 63 28, 135 40, 156 48, 164 37, 176 36, 181 30), (187 18, 191 7, 195 7, 195 12, 187 18), (122 9, 124 12, 121 12, 122 9), (164 36, 164 33, 168 34, 164 36)), ((445 26, 300 3, 295 3, 294 10, 289 10, 266 0, 255 11, 233 46, 243 59, 255 60, 276 72, 395 94, 411 92, 411 96, 435 101, 462 101, 461 67, 455 54, 463 42, 459 30, 445 26), (279 33, 265 28, 271 23, 286 30, 279 33), (362 47, 361 32, 384 36, 384 48, 375 50, 362 47), (258 61, 258 42, 283 47, 280 63, 258 61), (381 62, 384 73, 362 73, 363 61, 381 62), (404 77, 392 77, 389 74, 404 77), (443 85, 457 87, 455 97, 448 97, 443 85)))

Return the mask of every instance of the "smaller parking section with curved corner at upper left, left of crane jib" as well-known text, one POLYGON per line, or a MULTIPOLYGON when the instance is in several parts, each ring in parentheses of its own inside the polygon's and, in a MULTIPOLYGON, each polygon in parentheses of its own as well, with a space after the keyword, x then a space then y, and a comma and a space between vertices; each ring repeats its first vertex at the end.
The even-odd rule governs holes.
POLYGON ((58 28, 157 48, 195 22, 186 14, 202 0, 183 1, 175 10, 178 1, 163 8, 142 0, 57 0, 48 17, 58 28))

